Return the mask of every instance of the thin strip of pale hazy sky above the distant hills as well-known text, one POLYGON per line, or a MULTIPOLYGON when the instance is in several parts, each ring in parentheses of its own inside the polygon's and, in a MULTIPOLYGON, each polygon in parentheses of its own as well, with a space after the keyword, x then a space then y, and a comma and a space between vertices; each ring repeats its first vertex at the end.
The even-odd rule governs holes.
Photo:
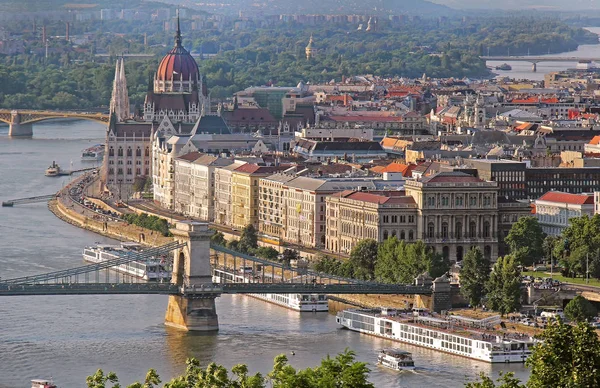
POLYGON ((452 8, 478 9, 600 9, 600 0, 429 0, 452 8))

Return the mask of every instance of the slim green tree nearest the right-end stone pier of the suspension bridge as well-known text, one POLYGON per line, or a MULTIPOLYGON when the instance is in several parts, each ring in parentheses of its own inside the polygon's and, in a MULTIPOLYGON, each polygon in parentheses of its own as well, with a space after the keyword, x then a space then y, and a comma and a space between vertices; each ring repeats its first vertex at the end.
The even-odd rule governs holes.
POLYGON ((490 278, 490 262, 481 250, 473 247, 467 252, 460 269, 460 292, 469 300, 472 307, 477 307, 485 293, 485 284, 490 278))

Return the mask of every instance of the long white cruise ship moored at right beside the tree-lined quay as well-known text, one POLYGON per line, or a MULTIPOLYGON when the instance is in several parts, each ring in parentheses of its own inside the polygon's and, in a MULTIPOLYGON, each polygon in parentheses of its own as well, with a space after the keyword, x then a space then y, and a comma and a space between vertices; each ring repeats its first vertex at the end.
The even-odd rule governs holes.
POLYGON ((504 337, 476 328, 481 321, 451 318, 398 314, 391 309, 349 309, 339 312, 336 322, 361 333, 489 363, 521 363, 531 354, 534 340, 529 336, 504 337))

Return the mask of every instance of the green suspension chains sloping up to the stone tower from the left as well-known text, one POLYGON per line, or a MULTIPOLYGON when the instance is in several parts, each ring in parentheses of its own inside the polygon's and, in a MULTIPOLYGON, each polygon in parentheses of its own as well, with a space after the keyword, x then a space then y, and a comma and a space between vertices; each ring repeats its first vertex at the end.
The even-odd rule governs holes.
POLYGON ((55 281, 58 283, 71 283, 73 280, 78 281, 78 275, 97 273, 100 270, 106 270, 111 267, 116 267, 122 264, 131 263, 133 261, 148 260, 154 256, 166 254, 172 250, 185 246, 185 243, 173 241, 157 248, 144 249, 137 254, 123 254, 118 259, 107 260, 101 263, 89 264, 65 270, 49 272, 41 275, 23 276, 19 278, 6 279, 0 281, 0 284, 38 284, 42 282, 55 281))

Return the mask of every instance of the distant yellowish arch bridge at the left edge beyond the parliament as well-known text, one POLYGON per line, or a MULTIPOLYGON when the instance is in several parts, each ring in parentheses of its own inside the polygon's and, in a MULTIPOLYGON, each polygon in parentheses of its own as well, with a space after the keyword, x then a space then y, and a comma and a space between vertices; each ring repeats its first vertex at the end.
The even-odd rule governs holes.
POLYGON ((109 116, 104 113, 0 109, 0 121, 10 126, 8 135, 11 137, 31 137, 33 123, 60 118, 92 120, 100 123, 108 123, 109 120, 109 116))

